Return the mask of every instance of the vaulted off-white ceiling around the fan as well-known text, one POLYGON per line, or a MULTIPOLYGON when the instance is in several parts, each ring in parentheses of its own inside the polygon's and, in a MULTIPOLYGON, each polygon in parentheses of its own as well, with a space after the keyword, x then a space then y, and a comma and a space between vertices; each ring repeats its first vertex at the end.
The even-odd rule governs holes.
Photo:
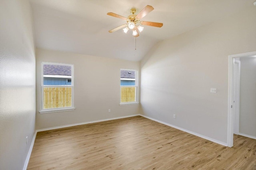
POLYGON ((158 42, 230 16, 253 5, 255 0, 30 0, 36 47, 85 55, 140 61, 158 42), (108 30, 126 21, 130 8, 136 14, 146 5, 154 10, 143 21, 164 23, 145 26, 136 38, 122 29, 108 30))

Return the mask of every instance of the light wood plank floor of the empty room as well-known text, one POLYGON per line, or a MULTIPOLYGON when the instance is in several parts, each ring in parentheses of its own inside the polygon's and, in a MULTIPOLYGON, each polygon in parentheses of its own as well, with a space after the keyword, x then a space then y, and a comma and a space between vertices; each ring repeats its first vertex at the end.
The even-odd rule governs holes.
POLYGON ((256 140, 224 147, 136 116, 38 132, 28 170, 256 170, 256 140))

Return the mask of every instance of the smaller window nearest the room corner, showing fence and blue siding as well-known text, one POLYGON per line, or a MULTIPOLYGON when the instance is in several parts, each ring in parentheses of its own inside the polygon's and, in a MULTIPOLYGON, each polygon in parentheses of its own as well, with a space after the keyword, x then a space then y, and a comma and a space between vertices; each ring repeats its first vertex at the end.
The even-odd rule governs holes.
POLYGON ((137 104, 137 70, 120 70, 120 104, 137 104))

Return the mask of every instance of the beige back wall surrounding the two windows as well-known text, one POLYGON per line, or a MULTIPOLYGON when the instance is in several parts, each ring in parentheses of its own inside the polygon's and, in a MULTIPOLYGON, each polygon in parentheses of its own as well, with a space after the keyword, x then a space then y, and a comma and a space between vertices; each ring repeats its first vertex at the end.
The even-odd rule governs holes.
POLYGON ((139 105, 119 106, 120 69, 139 70, 139 62, 36 49, 36 129, 139 114, 139 105), (74 64, 75 111, 39 113, 41 62, 74 64), (111 112, 108 112, 111 109, 111 112))

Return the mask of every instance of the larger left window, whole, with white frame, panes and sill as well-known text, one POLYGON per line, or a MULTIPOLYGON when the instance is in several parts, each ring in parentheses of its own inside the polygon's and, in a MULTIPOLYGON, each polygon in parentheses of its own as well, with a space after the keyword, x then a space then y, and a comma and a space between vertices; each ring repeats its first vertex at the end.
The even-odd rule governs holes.
POLYGON ((42 63, 42 110, 40 113, 74 110, 72 64, 42 63))

